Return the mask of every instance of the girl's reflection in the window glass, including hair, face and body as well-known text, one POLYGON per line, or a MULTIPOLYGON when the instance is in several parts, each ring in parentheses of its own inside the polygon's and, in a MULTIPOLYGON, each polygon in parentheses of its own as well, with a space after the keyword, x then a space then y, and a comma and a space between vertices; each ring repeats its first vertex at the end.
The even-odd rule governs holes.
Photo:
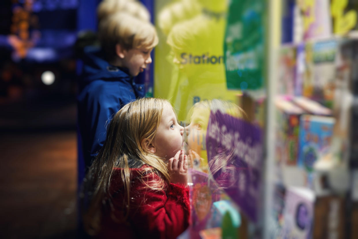
POLYGON ((190 192, 193 222, 191 238, 199 238, 197 231, 211 225, 209 219, 213 216, 212 204, 220 199, 223 193, 220 189, 233 185, 231 181, 227 185, 223 185, 222 182, 236 178, 236 161, 231 157, 233 153, 230 150, 222 146, 217 147, 217 154, 208 158, 207 129, 209 120, 212 120, 213 114, 217 111, 233 118, 247 118, 245 112, 237 105, 218 99, 200 101, 189 110, 187 122, 190 124, 185 127, 185 148, 189 153, 189 165, 193 165, 193 170, 189 171, 193 182, 190 192))

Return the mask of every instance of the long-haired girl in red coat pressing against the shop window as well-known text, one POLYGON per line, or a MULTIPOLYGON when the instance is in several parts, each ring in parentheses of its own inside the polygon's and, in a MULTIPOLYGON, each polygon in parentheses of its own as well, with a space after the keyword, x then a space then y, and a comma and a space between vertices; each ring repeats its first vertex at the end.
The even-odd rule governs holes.
POLYGON ((176 238, 188 227, 183 133, 166 100, 143 98, 116 113, 85 181, 89 235, 176 238))

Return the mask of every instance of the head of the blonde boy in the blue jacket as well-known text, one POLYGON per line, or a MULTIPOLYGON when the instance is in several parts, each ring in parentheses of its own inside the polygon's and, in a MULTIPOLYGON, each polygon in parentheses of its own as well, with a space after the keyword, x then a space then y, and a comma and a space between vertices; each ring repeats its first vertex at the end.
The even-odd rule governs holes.
POLYGON ((128 68, 131 76, 151 63, 150 52, 158 44, 154 26, 128 13, 116 13, 102 20, 99 38, 107 61, 128 68))

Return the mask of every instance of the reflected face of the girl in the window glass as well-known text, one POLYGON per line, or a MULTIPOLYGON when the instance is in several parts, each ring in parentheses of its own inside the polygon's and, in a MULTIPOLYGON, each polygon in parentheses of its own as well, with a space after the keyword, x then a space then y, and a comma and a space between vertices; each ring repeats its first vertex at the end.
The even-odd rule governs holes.
POLYGON ((187 134, 188 150, 192 149, 195 152, 200 152, 203 148, 203 143, 206 137, 208 128, 210 110, 205 107, 197 107, 193 111, 190 118, 190 124, 185 127, 187 134))

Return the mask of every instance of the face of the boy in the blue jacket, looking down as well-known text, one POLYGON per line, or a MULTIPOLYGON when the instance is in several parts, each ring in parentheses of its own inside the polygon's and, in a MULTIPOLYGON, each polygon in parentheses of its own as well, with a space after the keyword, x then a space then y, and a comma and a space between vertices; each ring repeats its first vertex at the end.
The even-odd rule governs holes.
POLYGON ((139 72, 144 71, 148 64, 152 62, 150 57, 151 49, 129 49, 123 52, 124 67, 129 69, 131 76, 137 76, 139 72))

